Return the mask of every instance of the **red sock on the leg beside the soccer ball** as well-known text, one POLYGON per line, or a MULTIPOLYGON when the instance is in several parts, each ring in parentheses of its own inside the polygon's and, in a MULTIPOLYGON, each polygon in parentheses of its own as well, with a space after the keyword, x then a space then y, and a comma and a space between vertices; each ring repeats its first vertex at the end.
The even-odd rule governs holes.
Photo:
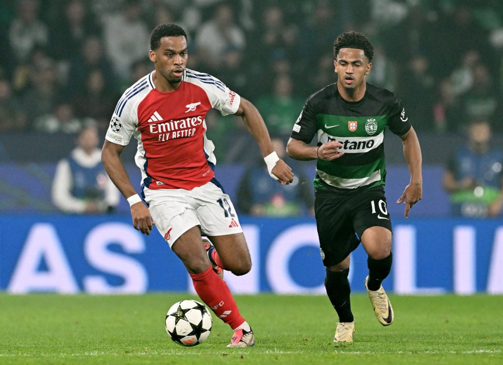
POLYGON ((197 295, 218 318, 232 329, 244 322, 229 287, 216 275, 211 266, 204 272, 190 276, 197 295))

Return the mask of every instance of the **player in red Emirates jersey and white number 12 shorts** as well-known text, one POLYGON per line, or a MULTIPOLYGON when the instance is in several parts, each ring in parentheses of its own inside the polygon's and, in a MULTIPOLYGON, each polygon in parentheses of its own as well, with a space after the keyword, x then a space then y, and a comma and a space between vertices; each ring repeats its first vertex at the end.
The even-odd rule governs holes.
POLYGON ((215 108, 222 115, 240 116, 271 177, 280 184, 292 182, 292 169, 274 152, 253 104, 217 78, 186 68, 184 29, 176 24, 155 27, 149 57, 154 70, 129 87, 117 103, 103 146, 103 164, 131 206, 134 228, 148 235, 155 222, 190 273, 201 300, 234 330, 229 346, 253 346, 253 331, 213 269, 244 275, 251 258, 232 202, 215 177, 215 146, 206 138, 206 113, 215 108), (138 141, 135 162, 142 174, 142 198, 120 159, 131 137, 138 141), (203 243, 203 235, 214 247, 203 243))

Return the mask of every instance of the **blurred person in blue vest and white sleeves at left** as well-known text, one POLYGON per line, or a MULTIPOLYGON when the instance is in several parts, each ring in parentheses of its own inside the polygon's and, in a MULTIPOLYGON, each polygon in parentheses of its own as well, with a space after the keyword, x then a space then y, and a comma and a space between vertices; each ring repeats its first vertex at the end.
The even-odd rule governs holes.
POLYGON ((110 213, 120 193, 101 163, 98 129, 88 125, 76 139, 70 155, 61 159, 52 184, 52 201, 65 213, 110 213))

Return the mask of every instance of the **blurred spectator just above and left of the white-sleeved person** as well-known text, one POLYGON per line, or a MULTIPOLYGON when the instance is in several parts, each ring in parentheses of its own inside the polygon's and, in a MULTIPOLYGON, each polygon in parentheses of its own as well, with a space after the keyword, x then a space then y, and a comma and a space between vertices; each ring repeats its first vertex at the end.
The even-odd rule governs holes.
POLYGON ((56 103, 51 113, 36 118, 33 129, 46 133, 73 134, 82 129, 82 121, 75 117, 72 105, 63 101, 56 103))

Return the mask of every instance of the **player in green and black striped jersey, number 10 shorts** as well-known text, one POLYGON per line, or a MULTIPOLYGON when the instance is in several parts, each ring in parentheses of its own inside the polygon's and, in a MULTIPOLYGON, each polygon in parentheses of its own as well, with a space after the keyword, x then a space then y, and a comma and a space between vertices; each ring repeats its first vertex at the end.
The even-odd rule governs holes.
POLYGON ((392 263, 391 221, 384 183, 384 132, 398 135, 410 183, 396 203, 405 218, 423 196, 422 156, 402 102, 392 92, 367 83, 373 46, 362 33, 345 32, 333 43, 337 82, 311 95, 287 145, 298 160, 316 159, 315 213, 325 288, 339 322, 334 342, 352 342, 355 330, 348 280, 350 253, 360 242, 368 254, 365 288, 379 322, 393 321, 381 283, 392 263), (316 146, 311 141, 316 135, 316 146))

